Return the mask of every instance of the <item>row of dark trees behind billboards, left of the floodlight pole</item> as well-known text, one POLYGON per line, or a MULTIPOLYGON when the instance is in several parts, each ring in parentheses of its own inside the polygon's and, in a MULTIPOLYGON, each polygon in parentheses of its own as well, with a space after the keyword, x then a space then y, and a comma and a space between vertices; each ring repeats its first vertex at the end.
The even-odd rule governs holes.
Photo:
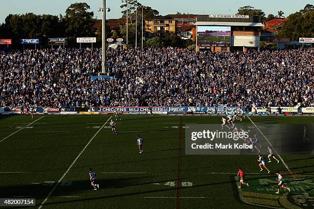
POLYGON ((46 46, 48 38, 68 37, 71 45, 76 37, 95 36, 94 14, 89 9, 86 3, 75 3, 68 7, 65 16, 9 14, 0 26, 0 38, 11 38, 13 47, 20 46, 21 38, 40 38, 41 45, 46 46))

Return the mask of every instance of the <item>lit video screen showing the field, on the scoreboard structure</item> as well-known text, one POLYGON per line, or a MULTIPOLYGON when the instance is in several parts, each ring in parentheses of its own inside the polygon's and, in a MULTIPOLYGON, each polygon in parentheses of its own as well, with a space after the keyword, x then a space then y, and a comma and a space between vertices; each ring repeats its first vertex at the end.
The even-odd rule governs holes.
POLYGON ((230 47, 231 26, 198 26, 198 46, 230 47))

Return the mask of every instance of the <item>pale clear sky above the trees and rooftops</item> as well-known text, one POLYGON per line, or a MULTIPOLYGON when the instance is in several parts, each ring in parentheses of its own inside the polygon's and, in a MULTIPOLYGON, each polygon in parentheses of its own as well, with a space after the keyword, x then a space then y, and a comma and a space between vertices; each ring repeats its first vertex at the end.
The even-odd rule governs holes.
MULTIPOLYGON (((90 10, 94 12, 94 17, 101 18, 101 13, 97 8, 102 7, 102 0, 0 0, 0 23, 5 22, 9 14, 24 14, 33 12, 35 14, 65 14, 65 10, 73 3, 86 2, 90 10)), ((239 7, 252 6, 262 9, 266 16, 269 13, 277 15, 277 11, 282 10, 288 16, 303 9, 306 4, 313 4, 312 0, 138 0, 145 6, 150 6, 160 12, 161 15, 181 13, 192 14, 235 14, 239 7)), ((106 0, 106 6, 111 9, 107 13, 107 19, 121 17, 121 0, 106 0)))

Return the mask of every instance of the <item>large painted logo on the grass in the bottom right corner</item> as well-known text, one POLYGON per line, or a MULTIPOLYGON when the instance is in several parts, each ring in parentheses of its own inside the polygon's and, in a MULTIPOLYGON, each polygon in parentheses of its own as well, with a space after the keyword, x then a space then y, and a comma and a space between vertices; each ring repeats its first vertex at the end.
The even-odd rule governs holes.
MULTIPOLYGON (((302 173, 302 171, 282 172, 291 191, 280 190, 280 194, 275 193, 278 184, 276 176, 247 176, 246 181, 250 186, 238 189, 240 199, 247 204, 268 208, 313 208, 314 175, 302 173)), ((239 186, 238 176, 234 179, 239 186)))

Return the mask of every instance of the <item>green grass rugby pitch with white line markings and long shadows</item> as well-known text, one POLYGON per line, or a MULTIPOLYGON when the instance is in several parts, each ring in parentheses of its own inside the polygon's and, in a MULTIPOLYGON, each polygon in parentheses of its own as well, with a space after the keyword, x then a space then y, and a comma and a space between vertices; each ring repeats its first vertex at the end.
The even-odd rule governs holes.
MULTIPOLYGON (((42 208, 76 209, 312 208, 314 204, 311 155, 281 156, 290 170, 291 192, 276 195, 276 176, 260 173, 255 155, 185 155, 185 124, 220 124, 220 116, 121 115, 117 135, 112 135, 109 122, 105 124, 111 116, 0 116, 0 197, 34 197, 33 208, 38 208, 49 195, 42 208), (139 134, 144 139, 143 154, 136 146, 139 134), (239 166, 248 173, 250 184, 241 190, 239 166), (97 191, 90 186, 89 168, 97 174, 97 191), (305 203, 303 192, 309 195, 305 203)), ((257 126, 314 123, 309 116, 250 118, 257 126)), ((242 123, 251 121, 246 118, 242 123)), ((269 168, 287 173, 283 163, 271 163, 269 168)))

